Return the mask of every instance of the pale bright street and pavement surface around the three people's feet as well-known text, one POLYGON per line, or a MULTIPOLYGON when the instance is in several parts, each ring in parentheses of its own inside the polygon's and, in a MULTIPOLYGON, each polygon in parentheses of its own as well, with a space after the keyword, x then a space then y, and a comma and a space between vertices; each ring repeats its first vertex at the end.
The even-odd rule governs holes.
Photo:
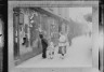
POLYGON ((66 67, 92 67, 92 39, 81 35, 73 39, 72 46, 67 47, 64 59, 58 57, 55 49, 54 59, 42 59, 41 54, 30 58, 16 68, 66 68, 66 67))

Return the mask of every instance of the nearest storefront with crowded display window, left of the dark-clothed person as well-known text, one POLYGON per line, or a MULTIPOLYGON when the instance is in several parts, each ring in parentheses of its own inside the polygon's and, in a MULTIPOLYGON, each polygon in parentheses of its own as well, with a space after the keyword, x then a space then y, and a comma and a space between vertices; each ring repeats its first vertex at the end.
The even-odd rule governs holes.
POLYGON ((29 9, 14 9, 14 59, 16 64, 41 53, 39 32, 40 15, 29 9))

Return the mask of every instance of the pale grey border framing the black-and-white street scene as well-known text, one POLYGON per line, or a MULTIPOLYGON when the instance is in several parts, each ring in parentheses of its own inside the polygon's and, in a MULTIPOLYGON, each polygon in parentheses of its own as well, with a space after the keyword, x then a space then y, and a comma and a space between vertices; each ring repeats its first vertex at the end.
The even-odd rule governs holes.
MULTIPOLYGON (((9 72, 86 72, 87 70, 99 69, 99 46, 95 39, 99 34, 99 1, 9 1, 8 20, 9 20, 9 72), (92 6, 93 12, 93 47, 92 51, 92 68, 15 68, 13 59, 13 8, 16 6, 61 6, 61 8, 76 8, 76 6, 92 6), (11 32, 11 34, 10 34, 11 32), (95 59, 96 58, 96 59, 95 59)), ((94 71, 95 72, 95 71, 94 71)))

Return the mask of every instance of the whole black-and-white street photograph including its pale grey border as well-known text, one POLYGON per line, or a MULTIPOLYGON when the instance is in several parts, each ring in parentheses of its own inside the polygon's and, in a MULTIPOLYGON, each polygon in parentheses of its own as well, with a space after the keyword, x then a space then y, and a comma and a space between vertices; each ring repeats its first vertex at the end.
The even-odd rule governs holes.
POLYGON ((100 72, 98 1, 9 1, 8 14, 9 72, 100 72))

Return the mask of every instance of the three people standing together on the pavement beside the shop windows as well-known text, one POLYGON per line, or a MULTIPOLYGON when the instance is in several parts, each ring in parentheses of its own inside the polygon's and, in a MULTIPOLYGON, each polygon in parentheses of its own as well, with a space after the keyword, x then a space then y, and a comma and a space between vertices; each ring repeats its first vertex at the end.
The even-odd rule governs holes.
POLYGON ((46 58, 53 59, 56 48, 58 49, 57 54, 60 55, 60 58, 64 59, 66 51, 67 51, 67 46, 69 44, 67 34, 63 32, 60 33, 57 45, 55 45, 51 39, 47 40, 42 33, 40 33, 39 37, 41 39, 43 59, 46 58))

